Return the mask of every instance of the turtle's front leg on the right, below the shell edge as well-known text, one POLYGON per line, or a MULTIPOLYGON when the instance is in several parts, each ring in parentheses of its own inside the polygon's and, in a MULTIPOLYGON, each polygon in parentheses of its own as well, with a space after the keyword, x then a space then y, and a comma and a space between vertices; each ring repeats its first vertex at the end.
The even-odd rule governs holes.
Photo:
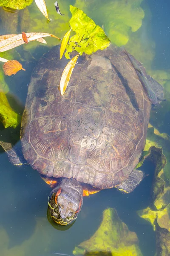
POLYGON ((145 177, 144 172, 134 169, 133 172, 129 175, 127 180, 122 182, 120 185, 116 186, 123 193, 130 193, 132 192, 136 186, 143 180, 145 177))

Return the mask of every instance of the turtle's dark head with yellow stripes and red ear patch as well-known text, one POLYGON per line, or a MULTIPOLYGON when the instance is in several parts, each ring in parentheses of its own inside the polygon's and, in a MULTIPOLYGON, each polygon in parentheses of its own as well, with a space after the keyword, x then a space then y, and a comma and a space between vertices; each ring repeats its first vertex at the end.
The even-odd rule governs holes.
POLYGON ((83 189, 74 179, 63 179, 48 197, 51 219, 59 225, 73 222, 82 208, 83 189))

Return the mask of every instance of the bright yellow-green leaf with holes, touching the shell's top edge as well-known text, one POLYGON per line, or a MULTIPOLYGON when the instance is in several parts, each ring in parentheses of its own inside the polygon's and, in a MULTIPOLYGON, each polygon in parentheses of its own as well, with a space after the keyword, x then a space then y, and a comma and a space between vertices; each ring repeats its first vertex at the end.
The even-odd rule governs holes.
POLYGON ((74 50, 80 52, 80 55, 83 52, 92 54, 109 46, 111 41, 103 29, 96 25, 91 18, 74 6, 70 6, 70 11, 72 13, 70 26, 76 35, 73 35, 69 40, 65 52, 66 58, 70 58, 70 53, 74 50))

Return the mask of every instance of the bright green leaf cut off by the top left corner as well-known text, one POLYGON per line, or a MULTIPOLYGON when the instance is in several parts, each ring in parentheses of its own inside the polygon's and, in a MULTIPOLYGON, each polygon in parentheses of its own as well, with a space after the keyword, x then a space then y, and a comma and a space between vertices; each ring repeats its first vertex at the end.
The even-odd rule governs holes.
POLYGON ((24 9, 32 2, 33 0, 0 0, 0 6, 5 6, 12 9, 24 9))

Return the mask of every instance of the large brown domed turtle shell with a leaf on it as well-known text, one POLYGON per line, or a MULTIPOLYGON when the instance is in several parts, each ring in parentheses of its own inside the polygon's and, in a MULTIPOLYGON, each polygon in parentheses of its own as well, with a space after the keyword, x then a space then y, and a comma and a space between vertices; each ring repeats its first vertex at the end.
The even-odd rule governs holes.
POLYGON ((67 63, 54 47, 34 69, 22 118, 24 157, 47 177, 114 187, 139 162, 151 103, 119 48, 79 56, 61 96, 59 82, 67 63))

